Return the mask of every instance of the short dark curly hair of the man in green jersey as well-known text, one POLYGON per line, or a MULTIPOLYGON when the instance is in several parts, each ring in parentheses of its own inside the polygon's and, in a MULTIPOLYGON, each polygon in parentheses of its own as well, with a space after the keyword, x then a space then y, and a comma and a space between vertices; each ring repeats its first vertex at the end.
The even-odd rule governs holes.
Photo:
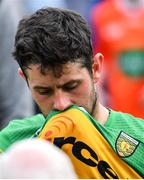
POLYGON ((13 56, 24 71, 40 64, 41 73, 80 62, 92 73, 91 32, 86 21, 71 10, 42 8, 18 25, 13 56))

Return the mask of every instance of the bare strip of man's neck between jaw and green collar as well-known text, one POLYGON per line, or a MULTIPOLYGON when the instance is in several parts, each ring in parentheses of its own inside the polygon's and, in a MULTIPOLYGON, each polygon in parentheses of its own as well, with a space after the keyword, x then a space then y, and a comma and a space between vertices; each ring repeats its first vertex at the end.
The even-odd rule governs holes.
POLYGON ((97 101, 95 111, 92 116, 102 125, 104 125, 109 117, 109 111, 100 102, 97 101))

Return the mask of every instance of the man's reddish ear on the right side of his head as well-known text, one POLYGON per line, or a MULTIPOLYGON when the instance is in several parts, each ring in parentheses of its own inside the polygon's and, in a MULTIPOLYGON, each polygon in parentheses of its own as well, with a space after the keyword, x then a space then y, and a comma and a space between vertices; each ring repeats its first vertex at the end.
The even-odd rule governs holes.
POLYGON ((93 63, 93 79, 94 83, 97 83, 100 79, 100 73, 102 69, 102 62, 104 60, 104 56, 101 53, 97 53, 94 56, 94 63, 93 63))

